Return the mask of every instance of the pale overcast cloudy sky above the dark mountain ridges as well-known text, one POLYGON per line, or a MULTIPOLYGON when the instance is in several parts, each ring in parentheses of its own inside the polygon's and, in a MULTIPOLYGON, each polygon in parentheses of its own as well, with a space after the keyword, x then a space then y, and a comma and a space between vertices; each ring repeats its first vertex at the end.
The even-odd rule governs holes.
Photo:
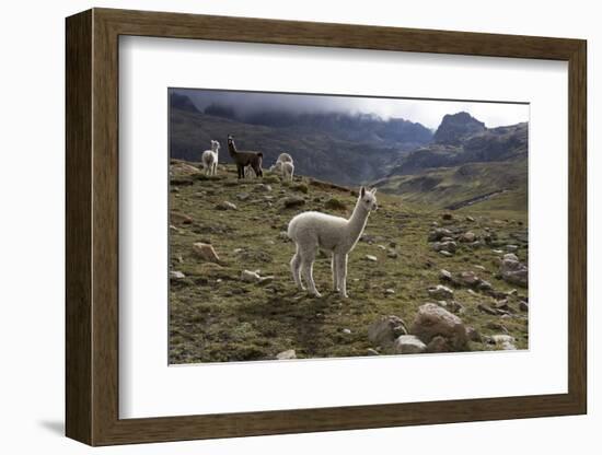
POLYGON ((200 89, 177 89, 175 91, 188 95, 200 109, 205 109, 211 103, 218 103, 233 107, 243 115, 257 110, 373 114, 384 119, 395 117, 420 122, 433 130, 437 129, 445 114, 455 114, 462 110, 485 122, 488 128, 529 121, 529 105, 525 104, 298 95, 200 89))

